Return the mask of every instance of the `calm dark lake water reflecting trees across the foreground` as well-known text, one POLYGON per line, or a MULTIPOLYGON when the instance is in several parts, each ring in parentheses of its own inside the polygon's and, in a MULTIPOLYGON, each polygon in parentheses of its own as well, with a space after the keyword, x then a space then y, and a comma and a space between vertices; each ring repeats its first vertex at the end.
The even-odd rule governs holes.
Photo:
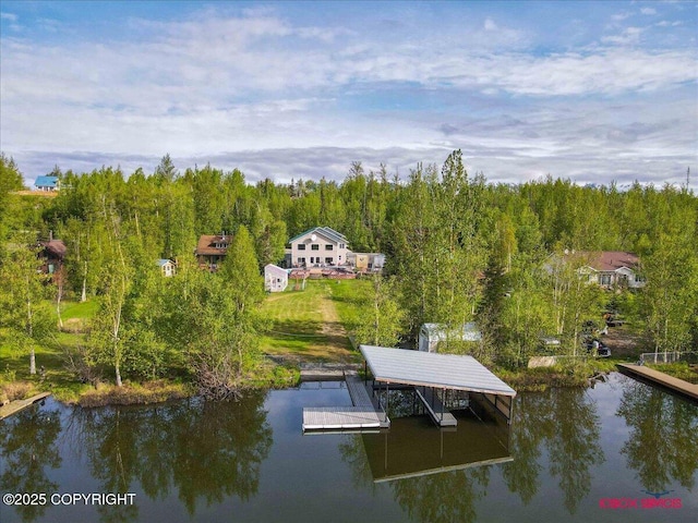
POLYGON ((410 416, 387 434, 302 434, 303 406, 345 404, 337 382, 237 403, 49 399, 0 422, 0 490, 47 494, 0 504, 0 521, 698 521, 698 405, 619 374, 519 394, 508 430, 464 412, 456 431, 410 416), (74 492, 135 496, 51 501, 74 492))

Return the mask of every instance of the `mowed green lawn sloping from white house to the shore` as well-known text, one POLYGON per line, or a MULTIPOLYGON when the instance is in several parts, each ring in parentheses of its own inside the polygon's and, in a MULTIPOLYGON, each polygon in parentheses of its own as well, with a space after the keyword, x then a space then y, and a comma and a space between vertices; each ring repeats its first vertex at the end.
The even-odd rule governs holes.
POLYGON ((348 331, 354 327, 365 281, 308 280, 305 290, 270 294, 262 305, 269 331, 265 354, 306 362, 358 361, 348 331))

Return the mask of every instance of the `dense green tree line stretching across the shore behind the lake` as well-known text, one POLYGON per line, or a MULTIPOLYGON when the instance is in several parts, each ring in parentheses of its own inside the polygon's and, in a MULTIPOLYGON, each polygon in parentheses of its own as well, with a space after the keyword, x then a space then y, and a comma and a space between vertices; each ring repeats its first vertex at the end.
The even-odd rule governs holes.
MULTIPOLYGON (((61 238, 65 288, 100 302, 91 357, 115 368, 117 382, 121 370, 158 376, 183 360, 234 385, 250 369, 245 354, 254 353, 249 349, 261 326, 260 268, 280 262, 288 239, 315 226, 342 232, 353 251, 386 254, 387 280, 374 283, 366 313, 375 330, 362 333, 373 342, 381 341, 381 328, 394 340, 397 324, 408 337, 428 321, 455 328, 478 320, 484 343, 477 355, 518 366, 543 335, 577 353, 582 324, 598 320, 605 307, 641 319, 658 351, 698 342, 698 198, 687 187, 579 186, 550 177, 491 184, 466 171, 460 151, 441 168, 418 165, 406 178, 354 162, 341 182, 250 184, 239 170, 209 165, 180 172, 168 155, 153 173, 57 168, 60 194, 37 206, 12 194, 22 184, 14 162, 2 156, 0 167, 5 273, 20 273, 8 245, 26 244, 19 241, 22 231, 61 238), (239 239, 231 247, 239 255, 216 275, 194 270, 197 238, 221 231, 239 239), (647 285, 614 293, 581 284, 569 264, 551 270, 551 259, 565 250, 634 252, 647 285), (157 278, 161 257, 178 262, 180 277, 157 278), (221 339, 226 357, 212 352, 221 339)), ((10 300, 16 278, 2 285, 10 300)), ((464 350, 456 339, 445 344, 464 350)))

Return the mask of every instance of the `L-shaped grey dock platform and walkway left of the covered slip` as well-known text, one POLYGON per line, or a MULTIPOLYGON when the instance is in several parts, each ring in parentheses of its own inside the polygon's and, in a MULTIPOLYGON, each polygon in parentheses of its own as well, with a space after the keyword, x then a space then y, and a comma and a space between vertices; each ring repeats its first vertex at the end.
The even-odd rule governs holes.
POLYGON ((303 431, 374 431, 390 426, 390 419, 371 399, 359 377, 348 375, 346 381, 353 406, 306 406, 303 409, 303 431))

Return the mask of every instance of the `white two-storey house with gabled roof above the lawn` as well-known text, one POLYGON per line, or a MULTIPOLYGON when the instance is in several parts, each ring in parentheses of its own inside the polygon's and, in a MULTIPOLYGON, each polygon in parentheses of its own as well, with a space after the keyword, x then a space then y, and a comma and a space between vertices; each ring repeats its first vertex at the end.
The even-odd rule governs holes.
POLYGON ((348 242, 329 227, 315 227, 288 242, 291 267, 326 267, 347 264, 348 242))

